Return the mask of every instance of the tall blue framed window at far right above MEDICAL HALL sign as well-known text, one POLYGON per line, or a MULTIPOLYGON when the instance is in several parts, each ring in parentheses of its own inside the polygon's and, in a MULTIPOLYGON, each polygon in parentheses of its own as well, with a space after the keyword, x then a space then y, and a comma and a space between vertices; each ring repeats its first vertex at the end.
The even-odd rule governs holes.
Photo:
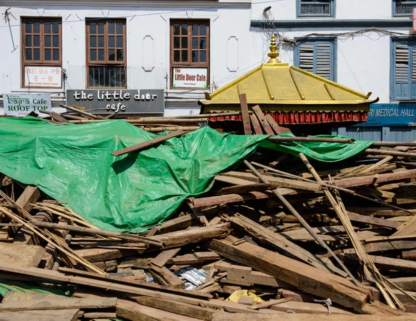
POLYGON ((416 99, 416 41, 393 40, 390 97, 393 101, 416 99))

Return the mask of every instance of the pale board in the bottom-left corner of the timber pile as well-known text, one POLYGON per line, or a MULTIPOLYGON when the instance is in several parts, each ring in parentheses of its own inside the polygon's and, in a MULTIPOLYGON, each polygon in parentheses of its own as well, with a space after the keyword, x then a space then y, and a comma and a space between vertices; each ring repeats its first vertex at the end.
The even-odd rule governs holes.
POLYGON ((1 321, 76 321, 79 309, 0 312, 1 321))

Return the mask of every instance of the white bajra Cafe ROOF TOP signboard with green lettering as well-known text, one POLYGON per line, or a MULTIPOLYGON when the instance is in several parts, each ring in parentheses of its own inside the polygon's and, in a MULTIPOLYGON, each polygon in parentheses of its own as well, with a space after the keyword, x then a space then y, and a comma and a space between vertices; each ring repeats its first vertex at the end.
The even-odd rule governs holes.
POLYGON ((3 107, 6 115, 26 116, 40 110, 52 112, 50 95, 3 94, 3 107))

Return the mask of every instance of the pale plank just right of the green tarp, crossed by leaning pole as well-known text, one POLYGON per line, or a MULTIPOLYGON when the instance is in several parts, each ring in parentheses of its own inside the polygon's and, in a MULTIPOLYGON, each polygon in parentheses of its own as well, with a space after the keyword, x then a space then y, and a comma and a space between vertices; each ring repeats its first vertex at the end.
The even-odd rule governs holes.
MULTIPOLYGON (((259 183, 260 179, 256 175, 252 173, 244 173, 244 172, 237 172, 237 171, 229 171, 226 173, 221 174, 223 176, 231 176, 240 178, 243 180, 248 180, 251 182, 259 183)), ((284 187, 288 189, 303 189, 305 191, 320 191, 321 187, 320 184, 315 184, 311 182, 302 182, 300 180, 291 180, 288 178, 282 177, 275 177, 272 175, 263 175, 270 184, 276 185, 277 187, 284 187)))

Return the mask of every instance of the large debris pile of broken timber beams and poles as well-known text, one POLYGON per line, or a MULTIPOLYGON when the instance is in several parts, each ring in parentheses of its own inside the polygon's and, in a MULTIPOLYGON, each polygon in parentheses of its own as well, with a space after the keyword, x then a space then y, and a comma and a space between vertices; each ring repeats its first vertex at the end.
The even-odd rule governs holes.
MULTIPOLYGON (((251 126, 256 134, 287 131, 259 107, 250 115, 241 105, 246 135, 251 126)), ((376 142, 331 163, 258 148, 140 234, 99 229, 37 187, 1 175, 0 319, 410 320, 415 146, 376 142)))

